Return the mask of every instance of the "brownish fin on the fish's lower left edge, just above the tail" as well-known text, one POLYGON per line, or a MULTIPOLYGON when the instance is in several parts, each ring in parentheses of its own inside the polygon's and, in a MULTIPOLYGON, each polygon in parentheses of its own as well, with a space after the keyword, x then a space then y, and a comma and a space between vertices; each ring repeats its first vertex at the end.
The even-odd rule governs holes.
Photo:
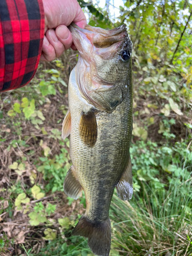
POLYGON ((75 200, 77 200, 81 194, 82 187, 79 181, 75 178, 73 165, 68 170, 68 173, 66 175, 66 178, 63 184, 63 189, 66 195, 68 195, 69 197, 75 200))

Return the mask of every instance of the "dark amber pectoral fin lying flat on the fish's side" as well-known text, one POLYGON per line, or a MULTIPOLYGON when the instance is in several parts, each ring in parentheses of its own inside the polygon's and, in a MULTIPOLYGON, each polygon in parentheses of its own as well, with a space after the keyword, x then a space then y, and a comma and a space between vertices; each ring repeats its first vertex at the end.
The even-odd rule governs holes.
POLYGON ((95 145, 97 141, 97 120, 93 110, 81 114, 79 135, 86 145, 95 145))

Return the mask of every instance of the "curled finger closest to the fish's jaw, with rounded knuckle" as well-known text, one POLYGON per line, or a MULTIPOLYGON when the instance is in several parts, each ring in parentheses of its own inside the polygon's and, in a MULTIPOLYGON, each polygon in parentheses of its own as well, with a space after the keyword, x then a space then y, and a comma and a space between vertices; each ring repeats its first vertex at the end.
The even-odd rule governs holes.
POLYGON ((69 29, 65 25, 59 25, 55 29, 55 33, 59 41, 64 45, 65 49, 69 49, 73 42, 73 38, 69 29))

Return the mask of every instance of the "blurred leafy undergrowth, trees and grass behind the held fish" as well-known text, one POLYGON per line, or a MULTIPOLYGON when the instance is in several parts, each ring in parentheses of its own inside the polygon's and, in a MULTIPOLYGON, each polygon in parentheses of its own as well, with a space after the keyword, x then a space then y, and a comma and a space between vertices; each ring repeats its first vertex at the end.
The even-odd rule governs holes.
MULTIPOLYGON (((114 194, 110 255, 192 255, 192 1, 79 1, 91 26, 121 24, 133 42, 134 195, 114 194)), ((40 63, 24 88, 0 95, 0 255, 92 256, 71 237, 86 208, 63 193, 61 139, 78 52, 40 63)))

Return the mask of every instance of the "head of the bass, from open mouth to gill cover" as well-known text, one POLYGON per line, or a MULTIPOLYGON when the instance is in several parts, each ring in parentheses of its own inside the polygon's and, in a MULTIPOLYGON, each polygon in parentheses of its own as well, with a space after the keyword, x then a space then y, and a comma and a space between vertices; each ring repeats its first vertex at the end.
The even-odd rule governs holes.
POLYGON ((132 86, 132 42, 126 25, 112 30, 69 27, 79 51, 76 77, 81 94, 101 111, 112 112, 132 86))

